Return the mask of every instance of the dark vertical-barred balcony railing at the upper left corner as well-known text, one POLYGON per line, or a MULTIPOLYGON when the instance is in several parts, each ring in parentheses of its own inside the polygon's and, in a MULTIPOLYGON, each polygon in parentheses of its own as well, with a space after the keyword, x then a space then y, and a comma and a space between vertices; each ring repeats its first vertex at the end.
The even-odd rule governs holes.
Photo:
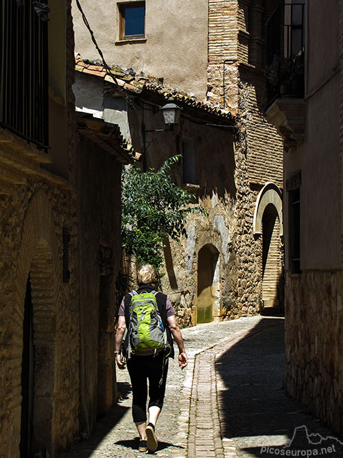
POLYGON ((0 0, 0 25, 0 125, 46 150, 47 22, 31 0, 0 0))

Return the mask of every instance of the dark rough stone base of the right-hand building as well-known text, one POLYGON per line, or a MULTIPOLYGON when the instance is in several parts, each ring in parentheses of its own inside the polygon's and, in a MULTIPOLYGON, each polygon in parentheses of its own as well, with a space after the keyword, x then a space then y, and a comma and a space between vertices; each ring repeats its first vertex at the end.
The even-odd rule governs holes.
POLYGON ((342 285, 342 271, 309 271, 287 274, 285 288, 287 389, 340 434, 342 285))

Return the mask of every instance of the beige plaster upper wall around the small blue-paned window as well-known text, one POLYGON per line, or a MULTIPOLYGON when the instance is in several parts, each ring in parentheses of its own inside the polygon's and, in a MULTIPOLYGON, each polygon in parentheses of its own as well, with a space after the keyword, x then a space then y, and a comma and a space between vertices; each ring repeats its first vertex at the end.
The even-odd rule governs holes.
MULTIPOLYGON (((163 78, 165 85, 195 94, 206 94, 207 0, 158 0, 146 2, 146 41, 119 41, 121 2, 93 0, 82 8, 109 65, 132 67, 134 71, 163 78)), ((73 1, 75 51, 83 58, 99 60, 80 12, 73 1)))

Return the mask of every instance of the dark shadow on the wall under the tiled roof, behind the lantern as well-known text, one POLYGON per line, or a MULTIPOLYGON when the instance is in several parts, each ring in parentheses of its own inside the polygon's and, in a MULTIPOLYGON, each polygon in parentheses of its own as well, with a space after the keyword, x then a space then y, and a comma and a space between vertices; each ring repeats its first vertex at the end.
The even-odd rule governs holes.
MULTIPOLYGON (((198 198, 211 197, 213 194, 224 198, 226 193, 231 198, 236 198, 232 129, 206 126, 205 122, 199 124, 192 122, 191 119, 181 119, 175 130, 147 132, 143 148, 143 119, 145 132, 165 128, 161 113, 154 113, 147 105, 144 110, 128 111, 132 146, 136 151, 144 153, 145 150, 146 153, 145 160, 142 158, 142 168, 158 170, 166 159, 181 154, 182 159, 171 168, 173 181, 177 185, 197 185, 198 198)), ((220 120, 217 124, 221 124, 220 120)), ((192 190, 191 192, 193 193, 192 190)))

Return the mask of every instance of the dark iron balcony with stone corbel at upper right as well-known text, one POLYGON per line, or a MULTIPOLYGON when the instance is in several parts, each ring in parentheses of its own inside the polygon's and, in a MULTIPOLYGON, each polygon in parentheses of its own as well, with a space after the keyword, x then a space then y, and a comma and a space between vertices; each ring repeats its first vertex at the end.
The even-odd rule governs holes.
POLYGON ((305 0, 276 8, 267 24, 267 119, 289 148, 305 126, 305 0))

